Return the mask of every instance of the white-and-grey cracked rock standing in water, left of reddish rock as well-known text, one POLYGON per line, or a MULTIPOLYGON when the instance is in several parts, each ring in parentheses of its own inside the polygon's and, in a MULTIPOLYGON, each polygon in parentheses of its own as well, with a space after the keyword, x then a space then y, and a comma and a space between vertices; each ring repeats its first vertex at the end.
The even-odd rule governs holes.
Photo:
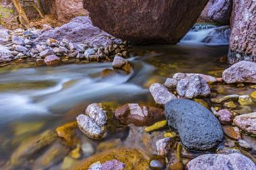
POLYGON ((80 130, 89 138, 102 138, 106 132, 107 122, 111 117, 108 107, 103 103, 92 103, 86 108, 86 115, 77 116, 77 124, 80 130))

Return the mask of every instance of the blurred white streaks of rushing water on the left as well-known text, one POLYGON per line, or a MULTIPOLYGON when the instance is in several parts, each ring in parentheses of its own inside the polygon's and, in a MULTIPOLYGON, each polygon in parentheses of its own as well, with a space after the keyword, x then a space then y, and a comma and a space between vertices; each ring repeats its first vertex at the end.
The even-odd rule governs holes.
MULTIPOLYGON (((141 61, 139 61, 141 62, 141 61)), ((137 76, 142 73, 145 81, 154 68, 140 63, 137 76)), ((33 81, 53 81, 55 85, 42 89, 15 89, 0 92, 0 124, 28 116, 29 114, 53 114, 72 108, 75 104, 97 99, 118 99, 146 93, 136 85, 132 75, 115 75, 102 79, 103 69, 110 68, 111 63, 88 65, 65 65, 60 67, 38 67, 20 69, 1 74, 0 83, 23 83, 33 81), (68 85, 67 83, 71 83, 68 85)))

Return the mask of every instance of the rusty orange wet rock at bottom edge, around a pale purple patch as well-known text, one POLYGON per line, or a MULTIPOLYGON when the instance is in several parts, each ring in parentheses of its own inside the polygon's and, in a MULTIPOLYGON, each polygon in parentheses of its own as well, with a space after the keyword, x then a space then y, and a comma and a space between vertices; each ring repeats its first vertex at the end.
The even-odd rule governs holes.
POLYGON ((113 159, 117 159, 118 161, 125 163, 126 170, 149 169, 149 160, 146 159, 146 157, 144 157, 141 153, 139 153, 139 151, 131 148, 113 148, 84 159, 84 161, 82 161, 82 163, 80 163, 73 170, 86 170, 89 169, 90 165, 93 163, 98 161, 100 161, 100 163, 104 163, 113 159))

